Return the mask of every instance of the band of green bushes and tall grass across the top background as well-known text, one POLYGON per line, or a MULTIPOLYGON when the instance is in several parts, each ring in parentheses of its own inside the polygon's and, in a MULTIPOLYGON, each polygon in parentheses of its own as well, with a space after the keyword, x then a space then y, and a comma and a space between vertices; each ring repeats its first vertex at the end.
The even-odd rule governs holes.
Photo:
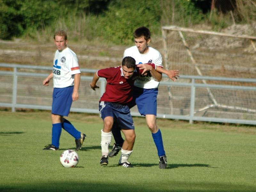
MULTIPOLYGON (((23 36, 48 41, 54 31, 63 29, 74 41, 131 44, 133 31, 140 26, 158 36, 163 25, 192 27, 208 23, 219 30, 232 23, 230 16, 217 11, 211 16, 203 14, 195 6, 196 1, 0 0, 0 39, 23 36)), ((236 6, 236 22, 252 23, 256 19, 253 1, 236 0, 236 6)))

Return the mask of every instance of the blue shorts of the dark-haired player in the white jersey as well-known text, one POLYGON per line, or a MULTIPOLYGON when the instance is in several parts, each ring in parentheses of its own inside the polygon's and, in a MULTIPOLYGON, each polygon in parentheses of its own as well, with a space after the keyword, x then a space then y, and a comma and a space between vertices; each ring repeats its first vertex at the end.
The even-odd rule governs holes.
POLYGON ((140 115, 155 115, 157 110, 157 94, 156 89, 143 89, 133 87, 132 101, 128 104, 129 108, 137 105, 140 115))

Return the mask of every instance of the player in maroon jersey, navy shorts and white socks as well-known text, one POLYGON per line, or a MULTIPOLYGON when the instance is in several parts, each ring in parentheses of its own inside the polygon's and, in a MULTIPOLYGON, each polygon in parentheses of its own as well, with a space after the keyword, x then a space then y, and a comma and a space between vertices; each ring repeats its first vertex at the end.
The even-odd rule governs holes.
MULTIPOLYGON (((155 64, 150 64, 155 68, 155 64)), ((132 86, 139 69, 136 70, 136 61, 132 57, 124 57, 122 67, 111 67, 98 70, 90 84, 91 88, 99 88, 96 83, 100 77, 107 80, 106 91, 100 98, 99 111, 103 119, 101 130, 101 165, 108 165, 108 147, 112 139, 112 126, 116 122, 124 133, 125 140, 121 149, 118 165, 130 168, 128 162, 132 154, 135 141, 134 123, 127 103, 132 100, 132 86)))

